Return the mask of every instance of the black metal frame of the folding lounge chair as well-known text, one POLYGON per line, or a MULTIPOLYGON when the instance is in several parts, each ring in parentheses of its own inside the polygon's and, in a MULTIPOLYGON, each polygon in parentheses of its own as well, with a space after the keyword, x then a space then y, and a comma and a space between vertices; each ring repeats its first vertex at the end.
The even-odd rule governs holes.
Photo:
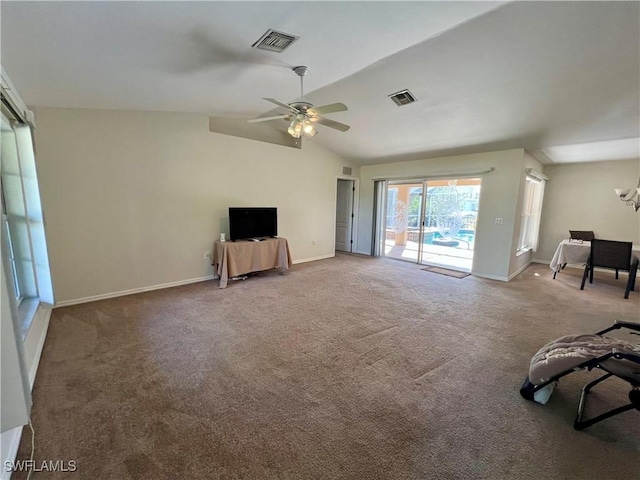
MULTIPOLYGON (((605 333, 608 333, 612 330, 618 330, 621 328, 628 328, 629 330, 640 332, 640 323, 616 321, 612 326, 596 333, 596 335, 604 335, 605 333)), ((640 335, 640 334, 636 334, 636 335, 640 335)), ((605 355, 591 358, 585 362, 582 362, 580 365, 577 365, 557 375, 554 375, 546 382, 540 383, 538 385, 534 385, 533 383, 531 383, 531 381, 529 380, 529 377, 527 376, 524 383, 522 384, 522 387, 520 388, 520 395, 522 395, 522 397, 525 398, 526 400, 535 401, 534 395, 536 392, 542 390, 543 388, 547 387, 552 383, 558 382, 558 380, 560 380, 562 377, 584 368, 586 368, 589 371, 591 371, 594 368, 599 368, 601 370, 604 370, 607 373, 602 377, 599 377, 596 380, 589 382, 587 385, 585 385, 582 388, 582 394, 580 395, 580 403, 578 404, 578 413, 576 415, 576 420, 573 423, 573 428, 575 428, 576 430, 584 430, 585 428, 590 427, 594 423, 598 423, 602 420, 613 417, 614 415, 618 415, 620 413, 627 412, 633 409, 640 411, 640 375, 638 375, 639 378, 631 378, 626 376, 620 376, 610 372, 609 370, 607 370, 606 365, 604 366, 602 365, 602 362, 604 362, 605 360, 609 360, 611 358, 614 358, 616 360, 629 360, 631 362, 634 362, 640 365, 640 355, 634 355, 632 353, 625 353, 625 352, 617 352, 613 350, 612 352, 609 352, 605 355), (620 378, 621 380, 625 380, 629 382, 629 384, 631 385, 631 391, 629 392, 630 403, 614 408, 612 410, 609 410, 595 417, 584 419, 584 412, 587 404, 587 396, 589 395, 589 392, 591 391, 591 389, 595 387, 597 384, 599 384, 600 382, 603 382, 608 378, 614 377, 614 376, 617 378, 620 378)))

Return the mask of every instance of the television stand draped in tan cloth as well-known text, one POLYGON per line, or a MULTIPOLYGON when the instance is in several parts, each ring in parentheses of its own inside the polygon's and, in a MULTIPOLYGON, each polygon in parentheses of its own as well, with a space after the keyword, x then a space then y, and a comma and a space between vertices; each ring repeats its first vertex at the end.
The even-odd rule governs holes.
POLYGON ((286 274, 291 266, 291 253, 286 238, 262 240, 217 240, 213 250, 213 267, 220 277, 220 288, 226 288, 230 278, 280 268, 286 274))

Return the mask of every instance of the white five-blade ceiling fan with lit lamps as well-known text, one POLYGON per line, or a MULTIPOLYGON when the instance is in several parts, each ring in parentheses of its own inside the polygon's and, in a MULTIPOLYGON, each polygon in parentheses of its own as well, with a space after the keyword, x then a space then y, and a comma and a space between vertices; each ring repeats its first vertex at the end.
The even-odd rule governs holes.
POLYGON ((296 100, 291 103, 284 103, 276 100, 275 98, 264 98, 267 102, 271 102, 279 107, 286 108, 289 113, 282 115, 274 115, 271 117, 258 117, 249 120, 249 123, 267 122, 269 120, 291 120, 287 132, 293 138, 300 138, 302 135, 308 137, 315 137, 318 131, 315 128, 315 124, 319 123, 326 127, 335 128, 341 132, 349 130, 349 125, 336 122, 328 118, 321 117, 325 113, 336 113, 347 111, 347 106, 344 103, 331 103, 329 105, 323 105, 321 107, 315 107, 312 103, 307 102, 304 99, 303 77, 307 74, 308 68, 305 66, 294 67, 292 69, 296 75, 300 77, 300 100, 296 100))

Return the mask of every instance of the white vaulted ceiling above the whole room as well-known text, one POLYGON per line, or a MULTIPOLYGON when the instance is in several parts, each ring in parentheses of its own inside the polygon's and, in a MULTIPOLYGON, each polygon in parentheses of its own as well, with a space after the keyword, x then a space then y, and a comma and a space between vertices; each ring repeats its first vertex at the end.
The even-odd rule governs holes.
POLYGON ((308 65, 307 98, 347 104, 327 117, 352 127, 309 141, 362 164, 516 147, 640 158, 635 1, 3 0, 0 15, 2 66, 30 106, 248 119, 271 110, 262 97, 298 97, 291 67, 308 65), (300 39, 251 48, 269 28, 300 39), (418 101, 397 107, 404 88, 418 101))

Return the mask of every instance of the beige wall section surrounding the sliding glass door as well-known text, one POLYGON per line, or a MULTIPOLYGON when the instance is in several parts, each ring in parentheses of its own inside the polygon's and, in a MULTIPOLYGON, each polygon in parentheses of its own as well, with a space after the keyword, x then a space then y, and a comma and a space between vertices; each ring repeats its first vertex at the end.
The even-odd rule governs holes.
POLYGON ((481 175, 482 187, 476 230, 472 272, 475 275, 506 280, 511 273, 511 258, 515 255, 513 241, 516 224, 520 225, 517 209, 525 161, 524 150, 478 153, 441 157, 412 162, 363 166, 360 170, 360 215, 357 251, 370 253, 373 180, 374 178, 422 178, 430 175, 474 172, 494 168, 481 175), (502 225, 495 223, 503 219, 502 225))

